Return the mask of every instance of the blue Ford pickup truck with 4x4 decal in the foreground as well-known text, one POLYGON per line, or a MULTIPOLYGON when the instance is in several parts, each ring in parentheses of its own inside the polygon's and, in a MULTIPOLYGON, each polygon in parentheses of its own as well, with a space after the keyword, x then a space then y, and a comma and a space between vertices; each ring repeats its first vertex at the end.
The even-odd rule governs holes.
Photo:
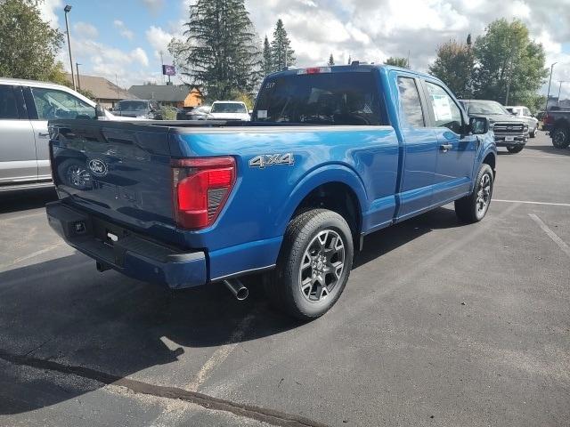
POLYGON ((297 318, 338 300, 365 235, 455 202, 485 216, 496 147, 425 74, 358 65, 265 78, 252 122, 57 120, 49 223, 98 270, 172 288, 264 273, 297 318))

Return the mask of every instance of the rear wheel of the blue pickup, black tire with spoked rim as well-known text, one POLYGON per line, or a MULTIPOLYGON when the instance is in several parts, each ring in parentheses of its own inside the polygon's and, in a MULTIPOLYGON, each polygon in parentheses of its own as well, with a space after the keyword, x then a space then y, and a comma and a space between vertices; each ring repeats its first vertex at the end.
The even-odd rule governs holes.
POLYGON ((295 318, 318 318, 338 301, 350 275, 353 257, 353 236, 342 216, 327 209, 306 211, 289 222, 277 267, 265 277, 265 293, 276 308, 295 318), (320 243, 322 238, 325 240, 324 246, 320 243), (336 240, 333 242, 333 239, 336 240), (333 246, 334 254, 330 254, 330 248, 327 252, 328 245, 333 246), (340 245, 342 249, 339 249, 340 245), (317 246, 322 246, 322 252, 312 252, 317 246), (340 271, 335 272, 332 270, 338 269, 340 251, 343 265, 340 271), (322 261, 318 263, 317 259, 322 261), (307 266, 303 268, 302 263, 307 266), (332 270, 323 272, 327 269, 332 270), (317 271, 320 273, 317 274, 317 271), (328 281, 330 283, 327 285, 328 281), (304 287, 302 282, 311 283, 304 287), (320 285, 322 282, 324 286, 320 285))

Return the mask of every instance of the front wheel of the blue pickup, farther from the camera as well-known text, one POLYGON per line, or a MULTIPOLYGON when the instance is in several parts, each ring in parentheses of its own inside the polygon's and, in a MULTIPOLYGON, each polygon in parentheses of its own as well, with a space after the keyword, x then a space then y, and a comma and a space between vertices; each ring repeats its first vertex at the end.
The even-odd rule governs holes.
POLYGON ((473 192, 466 197, 455 200, 455 214, 457 214, 462 222, 479 222, 485 218, 485 214, 487 214, 489 210, 489 205, 491 205, 491 198, 493 197, 493 183, 493 169, 491 169, 490 165, 484 163, 481 165, 479 173, 477 173, 473 192), (487 177, 486 179, 485 176, 487 177), (484 186, 484 182, 488 182, 488 190, 486 186, 484 186), (482 191, 482 193, 480 193, 480 191, 482 191), (483 210, 481 210, 480 197, 483 197, 486 202, 483 210))

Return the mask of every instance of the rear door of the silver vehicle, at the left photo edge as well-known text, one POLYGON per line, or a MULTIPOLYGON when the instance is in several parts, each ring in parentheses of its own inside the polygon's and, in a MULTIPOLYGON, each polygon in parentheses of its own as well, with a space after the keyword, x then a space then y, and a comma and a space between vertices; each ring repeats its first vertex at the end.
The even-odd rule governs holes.
POLYGON ((36 144, 21 87, 0 85, 0 185, 36 180, 36 144))

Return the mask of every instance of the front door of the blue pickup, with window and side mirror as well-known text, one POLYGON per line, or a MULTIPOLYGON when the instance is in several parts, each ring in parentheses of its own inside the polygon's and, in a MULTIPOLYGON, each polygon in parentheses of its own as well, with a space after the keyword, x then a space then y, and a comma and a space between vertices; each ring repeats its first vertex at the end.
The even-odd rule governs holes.
POLYGON ((428 80, 422 84, 428 100, 430 127, 438 143, 432 200, 434 205, 443 205, 469 192, 478 139, 476 135, 466 134, 466 119, 444 86, 428 80))

